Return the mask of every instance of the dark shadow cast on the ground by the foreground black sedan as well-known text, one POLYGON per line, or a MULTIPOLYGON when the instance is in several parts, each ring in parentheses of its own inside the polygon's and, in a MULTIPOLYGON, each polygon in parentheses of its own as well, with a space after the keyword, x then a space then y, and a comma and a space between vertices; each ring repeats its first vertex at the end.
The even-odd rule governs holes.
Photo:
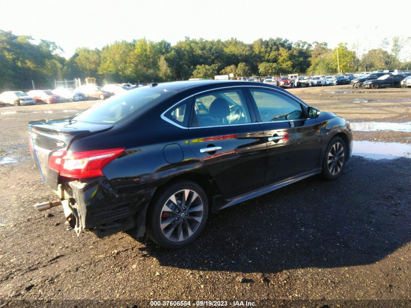
POLYGON ((179 250, 143 256, 203 271, 281 272, 374 263, 411 240, 411 160, 354 156, 337 181, 313 177, 211 215, 179 250))

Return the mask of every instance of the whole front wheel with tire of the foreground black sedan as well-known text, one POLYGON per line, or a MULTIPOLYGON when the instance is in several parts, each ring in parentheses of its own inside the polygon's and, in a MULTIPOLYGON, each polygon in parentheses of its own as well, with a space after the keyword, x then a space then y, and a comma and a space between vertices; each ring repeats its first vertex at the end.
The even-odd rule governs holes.
POLYGON ((336 136, 331 139, 322 160, 322 178, 337 180, 344 169, 347 154, 347 146, 342 138, 336 136))

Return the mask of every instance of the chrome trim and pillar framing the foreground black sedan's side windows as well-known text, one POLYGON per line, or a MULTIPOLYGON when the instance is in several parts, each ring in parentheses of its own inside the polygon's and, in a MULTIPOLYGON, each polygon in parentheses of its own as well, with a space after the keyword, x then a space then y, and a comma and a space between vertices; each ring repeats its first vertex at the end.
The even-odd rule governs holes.
MULTIPOLYGON (((296 100, 296 99, 295 99, 293 96, 291 96, 290 94, 288 94, 288 93, 286 93, 286 92, 283 92, 283 91, 279 91, 279 90, 277 90, 277 89, 271 89, 271 88, 268 88, 268 87, 257 86, 257 85, 255 85, 255 86, 254 86, 254 85, 226 86, 226 87, 220 87, 220 88, 214 88, 214 89, 208 89, 208 90, 204 90, 204 91, 199 91, 199 92, 193 93, 193 94, 191 94, 191 95, 189 95, 189 96, 186 96, 186 97, 184 97, 183 99, 179 100, 177 103, 173 104, 171 107, 169 107, 169 108, 166 109, 165 111, 163 111, 163 112, 161 113, 160 117, 161 117, 161 119, 163 119, 165 122, 168 122, 168 123, 170 123, 171 125, 174 125, 174 126, 176 126, 176 127, 182 128, 182 129, 197 129, 197 128, 207 128, 207 127, 230 127, 230 126, 254 125, 254 124, 264 124, 264 123, 294 122, 294 121, 305 121, 305 120, 308 120, 308 119, 309 119, 309 118, 306 118, 306 119, 298 119, 298 120, 282 120, 282 121, 275 121, 275 122, 262 122, 262 121, 259 121, 259 119, 257 118, 257 116, 260 116, 260 113, 259 113, 259 112, 258 112, 258 113, 255 112, 255 109, 254 109, 255 103, 254 103, 252 97, 250 97, 250 96, 251 96, 251 93, 250 93, 250 89, 249 89, 249 88, 265 89, 265 90, 268 90, 268 91, 273 91, 273 92, 277 92, 277 93, 286 95, 286 96, 288 96, 289 98, 291 98, 292 100, 294 100, 294 101, 296 101, 297 103, 299 103, 299 104, 301 104, 302 106, 304 106, 303 111, 304 111, 305 114, 306 114, 306 109, 309 107, 309 106, 306 105, 303 101, 296 100), (190 126, 187 126, 187 127, 185 127, 185 126, 182 126, 182 125, 177 124, 176 122, 168 119, 168 118, 165 116, 165 114, 166 114, 170 109, 173 109, 174 106, 177 106, 177 105, 180 104, 182 101, 184 101, 184 100, 186 100, 186 99, 188 99, 188 98, 190 98, 190 97, 194 97, 194 96, 196 96, 196 95, 198 95, 198 94, 201 94, 201 93, 213 92, 213 91, 216 91, 216 90, 232 89, 232 88, 240 88, 241 90, 246 91, 246 93, 243 92, 243 96, 244 96, 244 98, 245 98, 245 100, 246 100, 246 105, 247 105, 247 108, 249 109, 250 117, 252 118, 251 121, 254 121, 254 120, 255 120, 255 122, 251 122, 251 123, 239 123, 239 124, 229 124, 229 125, 214 125, 214 126, 199 126, 199 127, 190 127, 190 126), (247 94, 247 97, 246 97, 244 94, 247 94), (251 101, 251 99, 252 99, 252 101, 251 101), (251 105, 251 106, 250 106, 250 105, 251 105)), ((191 110, 192 110, 191 112, 193 112, 193 106, 192 106, 191 110)), ((258 111, 258 110, 257 110, 257 111, 258 111)), ((191 116, 190 116, 189 124, 191 124, 191 120, 192 120, 192 119, 191 119, 191 116)))

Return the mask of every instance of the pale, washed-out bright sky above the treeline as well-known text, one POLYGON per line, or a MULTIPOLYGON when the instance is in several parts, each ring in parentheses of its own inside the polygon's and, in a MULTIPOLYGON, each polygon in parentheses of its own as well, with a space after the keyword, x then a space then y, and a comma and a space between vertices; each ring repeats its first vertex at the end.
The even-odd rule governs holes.
MULTIPOLYGON (((0 0, 0 29, 55 41, 69 57, 76 47, 101 48, 142 37, 172 44, 185 36, 347 42, 358 54, 383 38, 411 36, 410 1, 0 0), (377 3, 378 5, 372 5, 377 3), (387 5, 390 3, 391 5, 387 5), (7 14, 7 12, 12 12, 7 14)), ((389 47, 388 47, 389 48, 389 47)), ((402 59, 411 60, 411 45, 402 59)))

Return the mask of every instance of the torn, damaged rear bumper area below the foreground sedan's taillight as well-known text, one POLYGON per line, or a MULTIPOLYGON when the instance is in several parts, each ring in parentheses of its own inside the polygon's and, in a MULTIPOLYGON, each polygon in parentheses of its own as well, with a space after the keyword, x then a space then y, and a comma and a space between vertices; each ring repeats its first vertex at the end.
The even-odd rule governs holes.
POLYGON ((69 181, 58 185, 64 214, 70 228, 79 235, 84 229, 101 238, 137 227, 145 232, 145 213, 155 189, 119 192, 104 178, 69 181))

